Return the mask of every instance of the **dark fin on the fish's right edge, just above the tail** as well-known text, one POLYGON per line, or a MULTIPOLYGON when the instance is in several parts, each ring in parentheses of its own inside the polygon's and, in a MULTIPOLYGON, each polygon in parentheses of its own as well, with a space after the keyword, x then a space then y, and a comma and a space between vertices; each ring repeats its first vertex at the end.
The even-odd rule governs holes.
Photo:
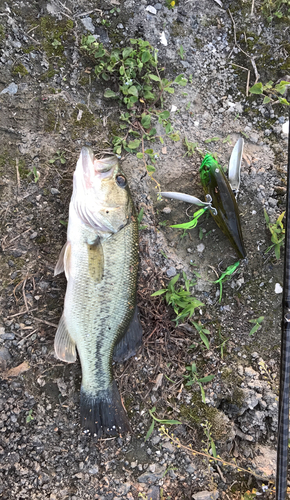
POLYGON ((113 360, 123 363, 136 354, 142 344, 142 326, 138 316, 138 308, 135 307, 134 316, 125 335, 115 345, 113 360))

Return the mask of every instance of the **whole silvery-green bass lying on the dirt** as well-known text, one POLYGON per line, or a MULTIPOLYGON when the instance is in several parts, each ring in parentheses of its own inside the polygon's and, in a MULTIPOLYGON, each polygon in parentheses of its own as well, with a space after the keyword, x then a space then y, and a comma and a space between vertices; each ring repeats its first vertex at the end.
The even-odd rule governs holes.
POLYGON ((136 307, 138 220, 116 156, 98 160, 83 147, 73 176, 67 242, 55 267, 65 272, 56 357, 82 368, 81 425, 96 437, 130 425, 113 378, 112 360, 137 352, 142 327, 136 307))

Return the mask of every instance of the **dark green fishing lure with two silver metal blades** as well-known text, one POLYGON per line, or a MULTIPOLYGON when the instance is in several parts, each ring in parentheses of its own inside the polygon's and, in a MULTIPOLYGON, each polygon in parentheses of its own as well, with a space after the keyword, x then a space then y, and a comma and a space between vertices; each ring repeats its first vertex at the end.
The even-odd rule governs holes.
MULTIPOLYGON (((237 194, 239 190, 242 152, 243 139, 240 138, 233 149, 230 159, 230 182, 226 178, 223 169, 210 154, 204 157, 200 166, 200 178, 206 194, 206 202, 183 193, 162 192, 161 195, 165 198, 174 198, 198 205, 203 207, 204 210, 209 209, 219 228, 230 240, 239 258, 244 259, 246 250, 238 205, 234 195, 234 192, 237 194)), ((177 226, 181 227, 183 225, 179 224, 177 226)))

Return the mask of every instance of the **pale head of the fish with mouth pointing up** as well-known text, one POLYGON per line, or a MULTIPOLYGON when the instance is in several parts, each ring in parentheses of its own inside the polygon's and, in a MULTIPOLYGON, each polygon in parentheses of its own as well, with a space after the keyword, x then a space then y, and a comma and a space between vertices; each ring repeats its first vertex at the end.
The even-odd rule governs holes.
POLYGON ((82 148, 72 203, 82 222, 98 231, 116 233, 130 221, 133 202, 116 156, 98 160, 91 148, 82 148))

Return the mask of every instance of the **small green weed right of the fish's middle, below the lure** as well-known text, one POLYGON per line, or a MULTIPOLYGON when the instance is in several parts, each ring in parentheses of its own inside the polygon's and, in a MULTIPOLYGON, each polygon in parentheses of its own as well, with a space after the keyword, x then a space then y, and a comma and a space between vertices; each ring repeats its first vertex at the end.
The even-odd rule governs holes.
POLYGON ((180 274, 177 274, 168 283, 167 288, 157 290, 157 292, 154 292, 151 295, 151 297, 157 297, 159 295, 165 294, 166 303, 173 307, 173 310, 176 314, 176 318, 174 320, 176 322, 176 325, 178 325, 179 321, 182 321, 186 318, 191 318, 197 307, 204 306, 204 304, 200 302, 200 300, 193 297, 189 291, 189 288, 195 283, 189 281, 184 272, 182 274, 185 287, 183 285, 180 285, 179 289, 175 288, 175 284, 180 277, 180 274))

